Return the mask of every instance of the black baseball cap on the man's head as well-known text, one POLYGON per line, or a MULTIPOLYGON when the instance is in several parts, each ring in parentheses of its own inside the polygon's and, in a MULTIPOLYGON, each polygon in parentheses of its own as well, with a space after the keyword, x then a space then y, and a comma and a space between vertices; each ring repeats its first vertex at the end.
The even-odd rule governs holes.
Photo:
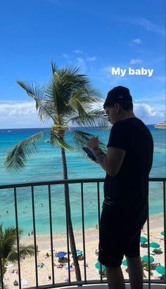
POLYGON ((106 108, 106 106, 112 103, 132 103, 132 96, 130 95, 129 89, 125 86, 115 86, 108 91, 103 108, 106 108))

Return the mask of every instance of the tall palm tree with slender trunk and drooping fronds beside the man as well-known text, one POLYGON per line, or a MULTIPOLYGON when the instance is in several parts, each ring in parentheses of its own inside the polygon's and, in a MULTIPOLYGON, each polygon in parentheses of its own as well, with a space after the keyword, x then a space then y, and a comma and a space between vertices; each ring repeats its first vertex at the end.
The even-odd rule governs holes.
MULTIPOLYGON (((41 121, 51 120, 53 122, 50 133, 52 146, 58 146, 61 150, 63 164, 63 179, 68 179, 68 168, 65 150, 73 147, 65 141, 65 134, 72 134, 77 148, 87 145, 92 134, 88 134, 75 127, 106 128, 106 118, 103 117, 102 109, 93 109, 95 103, 101 102, 99 91, 93 89, 89 79, 79 74, 79 68, 56 68, 51 63, 52 77, 44 87, 17 80, 16 82, 25 89, 27 94, 36 102, 36 108, 41 121)), ((9 171, 20 170, 25 167, 27 157, 37 151, 37 143, 41 140, 44 131, 40 131, 29 138, 17 143, 8 153, 5 159, 9 171)), ((103 143, 100 143, 104 148, 103 143)), ((77 281, 81 281, 79 263, 75 248, 75 238, 72 229, 70 214, 70 195, 68 184, 64 186, 65 207, 67 210, 67 224, 70 237, 70 248, 75 263, 77 281)))

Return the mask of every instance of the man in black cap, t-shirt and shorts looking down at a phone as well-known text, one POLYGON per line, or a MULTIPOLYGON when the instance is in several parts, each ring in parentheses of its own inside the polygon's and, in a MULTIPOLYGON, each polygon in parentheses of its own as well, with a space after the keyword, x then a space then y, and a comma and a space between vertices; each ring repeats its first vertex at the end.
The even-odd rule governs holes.
POLYGON ((87 146, 106 171, 99 228, 99 261, 106 266, 111 289, 125 289, 121 264, 125 255, 132 289, 143 288, 141 228, 148 215, 148 175, 153 162, 150 131, 133 113, 129 89, 117 86, 103 105, 113 124, 104 154, 98 138, 87 146))

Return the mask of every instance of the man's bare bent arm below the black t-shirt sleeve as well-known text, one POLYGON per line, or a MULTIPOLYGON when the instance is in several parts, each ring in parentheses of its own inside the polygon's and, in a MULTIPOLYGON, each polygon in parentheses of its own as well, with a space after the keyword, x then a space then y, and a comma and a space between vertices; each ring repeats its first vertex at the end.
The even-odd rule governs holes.
POLYGON ((110 176, 115 176, 120 171, 122 162, 125 158, 125 150, 121 148, 108 147, 107 154, 103 153, 101 148, 94 146, 91 148, 99 165, 108 173, 110 176))

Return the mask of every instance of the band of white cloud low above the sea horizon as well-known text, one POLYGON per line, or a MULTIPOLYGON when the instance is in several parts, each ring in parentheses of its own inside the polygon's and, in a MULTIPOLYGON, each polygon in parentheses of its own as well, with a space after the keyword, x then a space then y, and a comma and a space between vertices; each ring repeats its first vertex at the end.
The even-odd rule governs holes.
MULTIPOLYGON (((93 108, 103 108, 103 103, 96 103, 93 108)), ((151 106, 142 101, 134 101, 134 113, 146 124, 165 120, 165 107, 161 103, 151 106)), ((40 122, 33 101, 0 101, 0 129, 51 127, 51 124, 51 120, 40 122)))

